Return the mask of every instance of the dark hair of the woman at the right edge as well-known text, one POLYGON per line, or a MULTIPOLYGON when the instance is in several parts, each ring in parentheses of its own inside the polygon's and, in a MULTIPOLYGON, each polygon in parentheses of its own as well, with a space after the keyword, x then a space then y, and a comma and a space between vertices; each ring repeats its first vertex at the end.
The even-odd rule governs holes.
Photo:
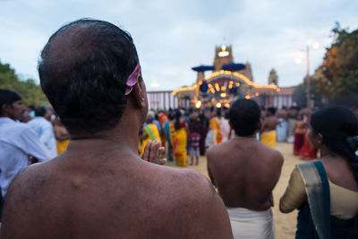
POLYGON ((326 107, 311 115, 311 128, 328 149, 349 160, 358 182, 358 119, 345 107, 326 107))

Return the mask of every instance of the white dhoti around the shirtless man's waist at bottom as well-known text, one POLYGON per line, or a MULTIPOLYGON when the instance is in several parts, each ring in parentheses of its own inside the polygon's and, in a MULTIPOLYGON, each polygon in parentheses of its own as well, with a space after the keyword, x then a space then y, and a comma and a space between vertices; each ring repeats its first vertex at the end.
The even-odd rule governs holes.
POLYGON ((271 209, 254 211, 226 208, 234 238, 274 239, 275 226, 271 209))

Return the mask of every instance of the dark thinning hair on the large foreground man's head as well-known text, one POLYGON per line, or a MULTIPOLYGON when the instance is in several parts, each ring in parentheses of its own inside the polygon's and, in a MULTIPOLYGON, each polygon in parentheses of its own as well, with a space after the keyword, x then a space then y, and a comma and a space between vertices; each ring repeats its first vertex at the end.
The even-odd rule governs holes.
POLYGON ((131 36, 107 21, 82 19, 57 30, 41 52, 42 90, 69 132, 115 127, 126 81, 139 63, 131 36))

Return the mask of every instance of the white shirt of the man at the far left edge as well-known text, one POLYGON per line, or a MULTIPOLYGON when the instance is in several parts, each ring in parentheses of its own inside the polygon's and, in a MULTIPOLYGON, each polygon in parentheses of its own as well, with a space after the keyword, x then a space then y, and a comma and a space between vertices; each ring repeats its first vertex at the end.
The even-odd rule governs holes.
POLYGON ((7 192, 9 184, 29 164, 29 156, 43 162, 50 159, 45 145, 29 125, 0 117, 0 187, 7 192))

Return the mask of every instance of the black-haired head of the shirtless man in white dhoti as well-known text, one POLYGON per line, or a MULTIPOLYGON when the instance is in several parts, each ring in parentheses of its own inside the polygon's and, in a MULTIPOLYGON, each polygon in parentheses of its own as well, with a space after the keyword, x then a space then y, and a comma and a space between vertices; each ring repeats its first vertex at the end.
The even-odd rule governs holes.
POLYGON ((259 128, 260 107, 251 99, 238 99, 229 109, 229 121, 238 136, 250 136, 259 128))

